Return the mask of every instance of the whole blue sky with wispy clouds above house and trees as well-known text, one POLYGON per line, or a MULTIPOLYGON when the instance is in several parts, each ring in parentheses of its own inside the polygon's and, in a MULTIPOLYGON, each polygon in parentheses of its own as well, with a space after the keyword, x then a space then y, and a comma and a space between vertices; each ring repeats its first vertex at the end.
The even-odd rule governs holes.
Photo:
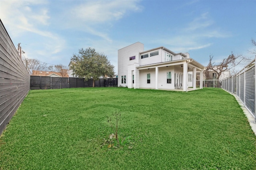
POLYGON ((233 52, 253 58, 255 0, 0 0, 0 18, 24 57, 68 65, 81 48, 104 53, 164 46, 207 65, 233 52))

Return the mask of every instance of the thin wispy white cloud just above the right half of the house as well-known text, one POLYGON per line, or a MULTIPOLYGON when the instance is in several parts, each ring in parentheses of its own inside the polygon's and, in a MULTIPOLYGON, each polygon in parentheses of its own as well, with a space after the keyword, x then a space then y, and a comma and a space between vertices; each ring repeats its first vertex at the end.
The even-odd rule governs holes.
MULTIPOLYGON (((218 26, 205 12, 194 18, 190 23, 185 23, 183 29, 178 30, 173 35, 164 39, 154 40, 154 42, 165 42, 175 52, 189 52, 192 50, 204 49, 214 44, 212 38, 230 37, 230 33, 220 31, 218 26), (171 41, 166 41, 170 39, 171 41)), ((167 47, 168 47, 167 46, 167 47)))

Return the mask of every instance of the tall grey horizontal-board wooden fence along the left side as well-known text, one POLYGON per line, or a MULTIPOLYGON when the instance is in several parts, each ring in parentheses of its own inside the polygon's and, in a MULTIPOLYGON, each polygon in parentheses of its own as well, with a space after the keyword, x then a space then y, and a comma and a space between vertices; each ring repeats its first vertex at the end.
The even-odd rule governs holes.
POLYGON ((0 134, 28 94, 30 75, 0 20, 0 134))

